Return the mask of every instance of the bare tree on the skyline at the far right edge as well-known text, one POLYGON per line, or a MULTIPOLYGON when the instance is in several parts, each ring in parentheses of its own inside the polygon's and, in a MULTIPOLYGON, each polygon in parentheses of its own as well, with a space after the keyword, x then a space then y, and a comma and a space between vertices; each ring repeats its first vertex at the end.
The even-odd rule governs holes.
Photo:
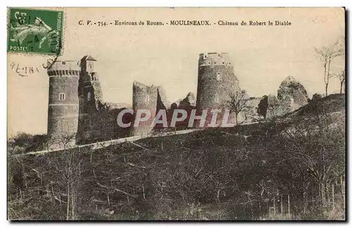
POLYGON ((325 83, 325 96, 327 96, 327 89, 329 87, 329 79, 331 74, 331 63, 334 58, 344 55, 344 48, 341 46, 341 41, 337 40, 330 46, 322 46, 321 48, 314 48, 315 53, 318 54, 320 61, 324 67, 324 83, 325 83))

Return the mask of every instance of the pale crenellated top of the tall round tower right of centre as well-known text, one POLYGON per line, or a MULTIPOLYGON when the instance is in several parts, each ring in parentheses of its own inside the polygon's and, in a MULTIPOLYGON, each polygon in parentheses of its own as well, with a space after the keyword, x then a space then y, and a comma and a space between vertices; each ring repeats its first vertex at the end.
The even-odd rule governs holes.
POLYGON ((232 65, 230 56, 225 52, 211 52, 199 54, 199 66, 232 65))

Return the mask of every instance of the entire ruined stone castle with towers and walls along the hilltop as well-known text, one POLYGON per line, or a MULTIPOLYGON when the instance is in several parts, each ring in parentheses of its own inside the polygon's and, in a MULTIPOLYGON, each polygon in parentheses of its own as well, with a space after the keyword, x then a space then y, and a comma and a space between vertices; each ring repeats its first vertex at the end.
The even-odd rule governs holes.
MULTIPOLYGON (((187 110, 189 119, 191 110, 196 109, 197 115, 201 115, 202 110, 223 109, 232 93, 241 92, 228 53, 201 53, 196 98, 193 93, 188 93, 186 98, 170 104, 163 87, 133 82, 134 115, 125 114, 122 119, 125 124, 131 123, 131 127, 120 128, 116 119, 118 113, 126 108, 103 102, 95 64, 96 60, 88 55, 79 61, 56 60, 49 67, 49 140, 82 144, 128 136, 149 136, 154 130, 163 129, 151 127, 159 110, 166 110, 170 124, 170 117, 176 109, 187 110), (139 127, 133 127, 138 110, 149 110, 151 117, 141 122, 139 127)), ((246 99, 249 106, 241 113, 239 122, 251 122, 260 119, 260 116, 268 118, 296 110, 306 105, 308 95, 293 77, 287 77, 279 87, 277 98, 263 96, 246 99)), ((218 119, 221 119, 221 115, 218 115, 218 119)), ((177 122, 177 129, 187 128, 187 119, 177 122)))

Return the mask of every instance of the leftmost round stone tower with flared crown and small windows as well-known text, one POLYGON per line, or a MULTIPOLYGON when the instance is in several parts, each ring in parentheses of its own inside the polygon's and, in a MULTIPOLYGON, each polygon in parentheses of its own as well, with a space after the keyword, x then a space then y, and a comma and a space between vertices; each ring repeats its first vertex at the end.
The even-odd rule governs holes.
MULTIPOLYGON (((74 141, 78 124, 80 63, 56 60, 48 69, 48 138, 51 143, 74 141)), ((62 145, 62 144, 61 144, 62 145)))

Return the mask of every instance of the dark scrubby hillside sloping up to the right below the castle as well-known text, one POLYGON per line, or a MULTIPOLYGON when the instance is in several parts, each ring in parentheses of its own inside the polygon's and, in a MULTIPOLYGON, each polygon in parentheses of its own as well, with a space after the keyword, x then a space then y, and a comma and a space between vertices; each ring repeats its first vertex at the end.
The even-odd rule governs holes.
POLYGON ((260 124, 10 155, 9 219, 344 219, 344 103, 332 95, 260 124))

